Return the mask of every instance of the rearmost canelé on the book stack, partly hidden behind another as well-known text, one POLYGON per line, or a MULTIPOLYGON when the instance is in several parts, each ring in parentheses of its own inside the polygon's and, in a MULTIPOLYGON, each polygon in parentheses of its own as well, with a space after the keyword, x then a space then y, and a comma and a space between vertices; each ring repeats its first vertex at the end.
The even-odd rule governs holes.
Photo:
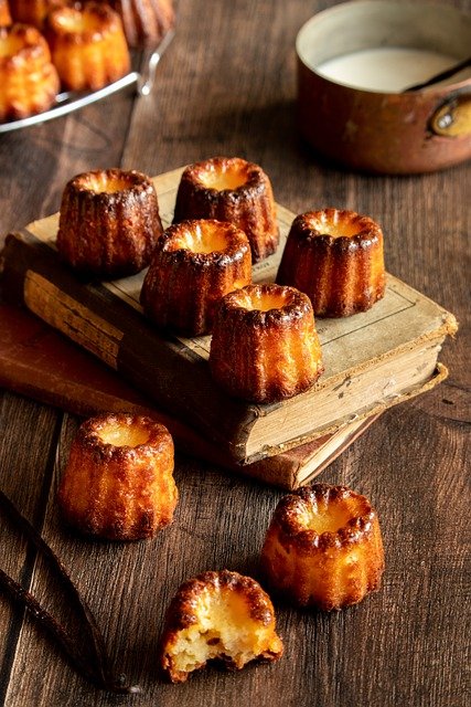
POLYGON ((239 157, 190 165, 176 193, 174 223, 186 219, 229 221, 247 234, 254 263, 275 253, 279 230, 270 180, 239 157))

